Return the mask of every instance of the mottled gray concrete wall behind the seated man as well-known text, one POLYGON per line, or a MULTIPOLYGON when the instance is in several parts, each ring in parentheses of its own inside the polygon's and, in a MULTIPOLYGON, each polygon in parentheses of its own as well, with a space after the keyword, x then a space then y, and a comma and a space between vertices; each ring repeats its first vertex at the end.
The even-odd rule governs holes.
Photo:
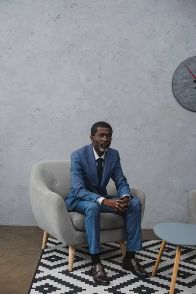
POLYGON ((114 128, 143 228, 188 221, 196 113, 172 75, 196 55, 194 0, 0 1, 0 224, 35 225, 31 166, 68 159, 93 123, 114 128))

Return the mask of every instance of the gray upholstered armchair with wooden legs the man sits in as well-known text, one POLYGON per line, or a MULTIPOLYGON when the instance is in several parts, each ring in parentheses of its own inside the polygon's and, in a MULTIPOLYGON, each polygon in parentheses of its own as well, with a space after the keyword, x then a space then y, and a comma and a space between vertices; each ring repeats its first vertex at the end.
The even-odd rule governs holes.
MULTIPOLYGON (((75 246, 87 245, 84 216, 68 212, 64 199, 70 191, 70 160, 43 161, 33 165, 30 175, 30 198, 34 217, 44 230, 42 248, 49 234, 69 246, 69 270, 73 270, 75 246)), ((114 182, 107 186, 109 195, 117 195, 114 182)), ((142 218, 145 210, 144 192, 131 188, 133 197, 142 203, 142 218)), ((112 213, 100 214, 100 243, 119 241, 122 255, 126 246, 125 218, 112 213)))

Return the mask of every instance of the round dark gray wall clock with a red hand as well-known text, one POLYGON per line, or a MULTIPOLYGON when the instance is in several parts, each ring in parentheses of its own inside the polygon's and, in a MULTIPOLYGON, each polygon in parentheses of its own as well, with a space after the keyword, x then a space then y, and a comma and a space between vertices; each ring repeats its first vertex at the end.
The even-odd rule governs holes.
POLYGON ((196 56, 183 61, 172 79, 175 98, 185 108, 196 111, 196 56))

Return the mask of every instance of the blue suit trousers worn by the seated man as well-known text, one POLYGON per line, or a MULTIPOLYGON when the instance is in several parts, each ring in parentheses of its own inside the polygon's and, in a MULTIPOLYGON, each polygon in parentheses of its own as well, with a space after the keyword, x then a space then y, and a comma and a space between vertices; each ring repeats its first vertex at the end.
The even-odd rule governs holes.
MULTIPOLYGON (((119 199, 119 197, 116 196, 108 198, 119 199)), ((86 238, 91 254, 100 253, 101 212, 124 214, 127 232, 126 250, 142 250, 141 210, 142 205, 140 200, 133 197, 130 199, 129 207, 126 212, 117 212, 110 207, 99 205, 95 201, 88 200, 80 200, 73 209, 73 211, 79 212, 85 216, 86 238)))

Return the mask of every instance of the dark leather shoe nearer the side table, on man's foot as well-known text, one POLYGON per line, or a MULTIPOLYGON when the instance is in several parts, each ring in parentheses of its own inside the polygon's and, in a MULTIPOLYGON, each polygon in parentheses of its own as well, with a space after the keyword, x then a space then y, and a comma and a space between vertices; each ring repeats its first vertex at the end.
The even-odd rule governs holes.
POLYGON ((141 267, 136 258, 123 259, 123 270, 130 270, 134 275, 140 278, 149 278, 150 274, 141 267))

